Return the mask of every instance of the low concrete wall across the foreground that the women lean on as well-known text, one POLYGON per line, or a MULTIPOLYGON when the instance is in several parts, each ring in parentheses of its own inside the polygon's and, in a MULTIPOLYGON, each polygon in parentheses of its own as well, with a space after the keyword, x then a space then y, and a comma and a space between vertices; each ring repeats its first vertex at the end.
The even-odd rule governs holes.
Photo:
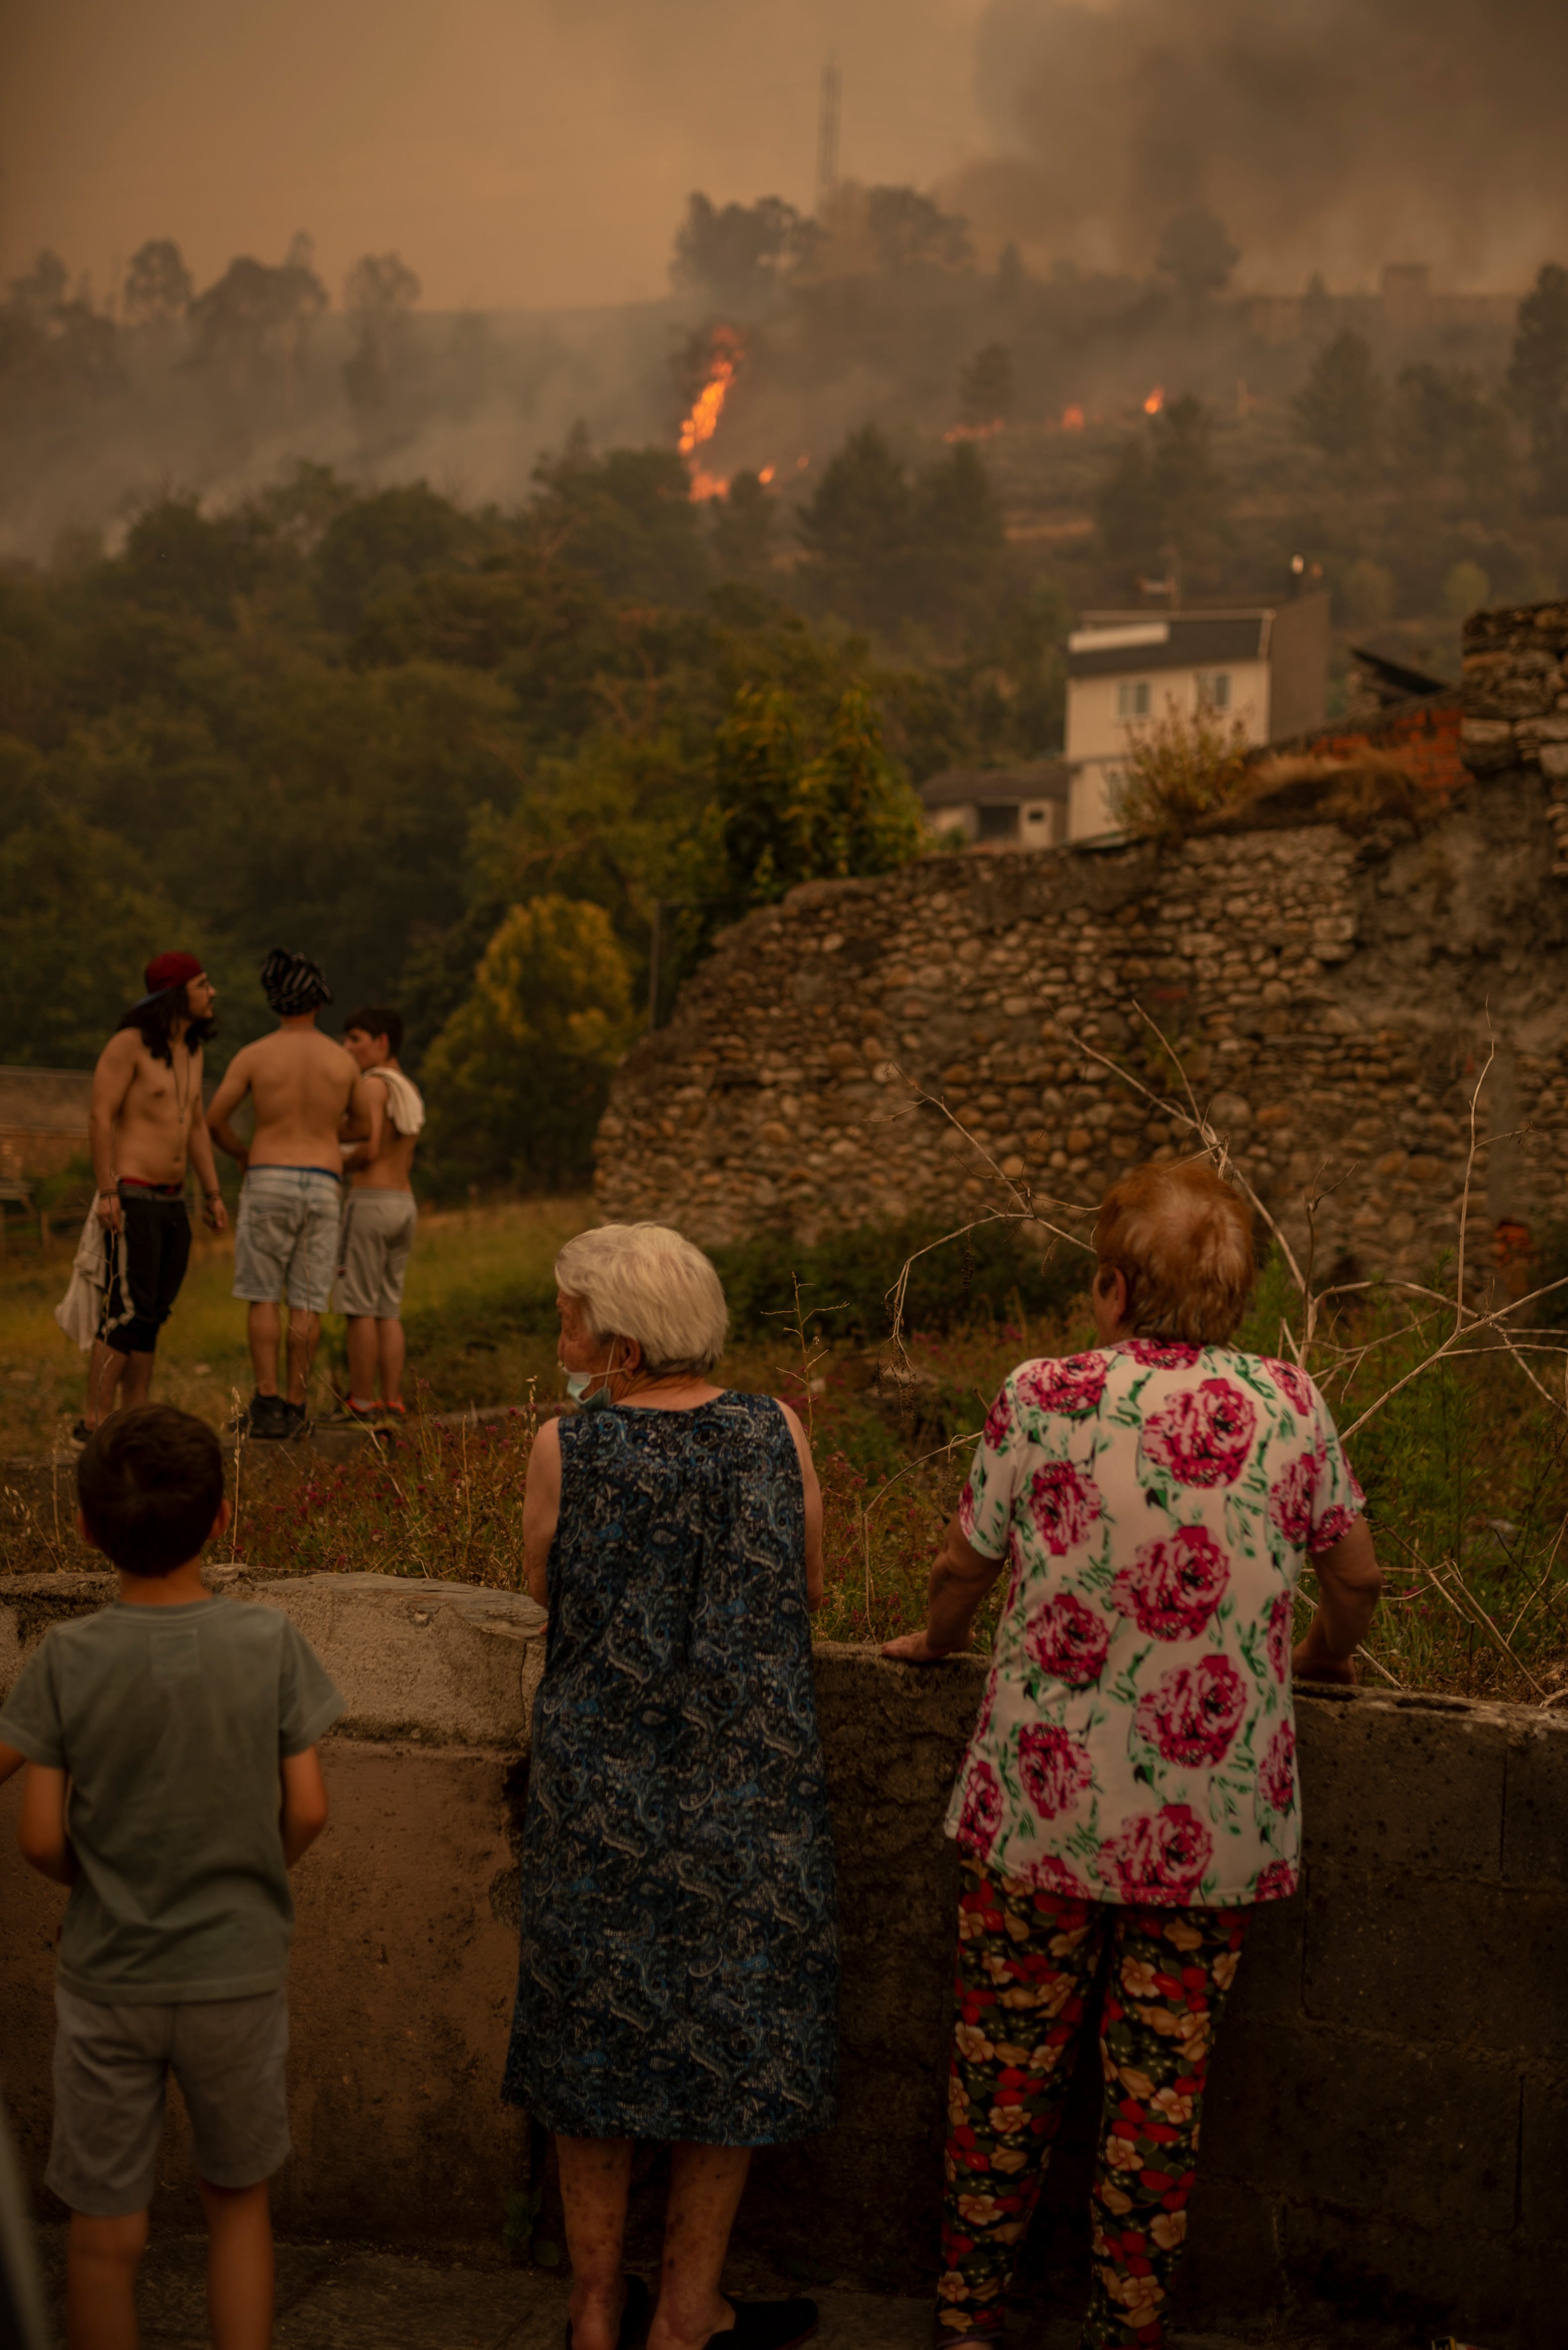
MULTIPOLYGON (((0 1687, 89 1577, 0 1584, 0 1687), (56 1589, 45 1589, 54 1584, 56 1589), (66 1589, 71 1586, 71 1589, 66 1589)), ((496 2242, 527 2131, 496 2103, 515 1969, 515 1833, 541 1619, 527 1600, 386 1577, 244 1586, 287 1605, 350 1716, 334 1821, 303 1861, 294 1958, 294 2235, 496 2242)), ((741 2235, 816 2275, 933 2272, 954 1866, 940 1819, 980 1666, 818 1650, 842 1880, 842 2122, 764 2155, 741 2235)), ((1568 2157, 1568 1723, 1302 1694, 1305 1892, 1248 1943, 1213 2073, 1187 2324, 1269 2310, 1556 2350, 1568 2157)), ((0 1805, 14 1817, 14 1788, 0 1805)), ((0 1831, 0 2070, 47 2143, 61 1899, 0 1831)), ((1072 2305, 1095 2066, 1030 2251, 1072 2305)), ((183 2146, 162 2209, 190 2214, 183 2146)), ((644 2176, 635 2242, 656 2221, 644 2176)), ((1392 2338, 1392 2336, 1389 2336, 1392 2338)))

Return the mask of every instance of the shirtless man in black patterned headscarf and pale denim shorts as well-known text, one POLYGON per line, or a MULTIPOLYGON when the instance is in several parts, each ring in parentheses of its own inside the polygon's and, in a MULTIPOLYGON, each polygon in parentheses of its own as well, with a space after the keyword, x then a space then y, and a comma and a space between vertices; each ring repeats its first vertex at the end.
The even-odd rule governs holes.
POLYGON ((322 1311, 339 1260, 343 1154, 339 1130, 350 1119, 371 1159, 381 1152, 381 1086, 315 1027, 331 989, 306 954, 273 947, 261 992, 277 1013, 277 1034, 247 1043, 228 1065, 207 1126, 244 1173, 235 1222, 235 1297, 249 1302, 256 1394, 252 1436, 303 1436, 306 1379, 322 1335, 322 1311), (249 1147, 228 1123, 249 1093, 256 1133, 249 1147), (289 1394, 277 1394, 280 1304, 289 1307, 289 1394))

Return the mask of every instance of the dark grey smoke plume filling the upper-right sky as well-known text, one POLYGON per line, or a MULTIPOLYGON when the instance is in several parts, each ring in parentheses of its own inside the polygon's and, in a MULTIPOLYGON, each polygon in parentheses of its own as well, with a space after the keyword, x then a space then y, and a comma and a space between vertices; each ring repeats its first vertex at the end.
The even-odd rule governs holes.
POLYGON ((1206 204, 1253 287, 1568 254, 1561 0, 987 0, 976 80, 999 155, 947 195, 992 247, 1147 268, 1206 204))

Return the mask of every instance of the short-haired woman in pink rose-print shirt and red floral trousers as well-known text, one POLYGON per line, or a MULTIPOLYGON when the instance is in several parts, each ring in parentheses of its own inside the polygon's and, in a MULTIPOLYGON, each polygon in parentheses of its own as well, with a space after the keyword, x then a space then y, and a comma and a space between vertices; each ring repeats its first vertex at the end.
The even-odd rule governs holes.
POLYGON ((1100 1347, 997 1396, 922 1633, 966 1647, 1009 1570, 952 1795, 961 1854, 938 2343, 994 2343, 1093 2005, 1105 2117, 1084 2343, 1164 2343, 1208 2054, 1248 1918, 1295 1892, 1291 1668, 1354 1680, 1378 1605, 1361 1490, 1291 1363, 1229 1340, 1251 1217, 1206 1166, 1095 1224, 1100 1347), (1291 1652, 1302 1560, 1319 1605, 1291 1652))

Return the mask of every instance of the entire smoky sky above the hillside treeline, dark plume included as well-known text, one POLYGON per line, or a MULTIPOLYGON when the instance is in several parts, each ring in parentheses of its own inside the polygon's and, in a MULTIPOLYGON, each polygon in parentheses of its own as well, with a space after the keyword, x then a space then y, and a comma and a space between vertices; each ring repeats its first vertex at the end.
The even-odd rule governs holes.
POLYGON ((1568 251, 1556 0, 0 0, 0 277, 200 282, 310 230, 336 294, 395 247, 430 308, 658 296, 693 188, 811 207, 842 167, 940 188, 983 256, 1143 270, 1211 207, 1239 282, 1519 289, 1568 251))

